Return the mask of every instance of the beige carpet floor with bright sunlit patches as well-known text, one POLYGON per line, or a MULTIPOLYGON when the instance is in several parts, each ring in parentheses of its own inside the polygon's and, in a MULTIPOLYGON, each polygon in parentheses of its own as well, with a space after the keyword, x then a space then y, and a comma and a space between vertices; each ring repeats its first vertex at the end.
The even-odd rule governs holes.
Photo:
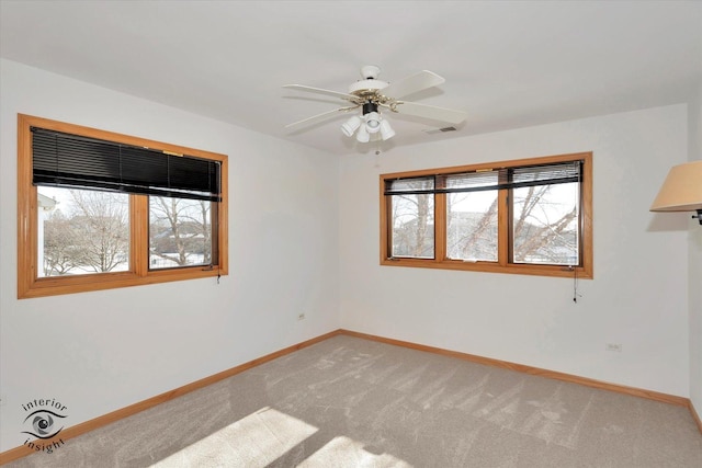
POLYGON ((9 467, 702 467, 686 408, 339 335, 9 467))

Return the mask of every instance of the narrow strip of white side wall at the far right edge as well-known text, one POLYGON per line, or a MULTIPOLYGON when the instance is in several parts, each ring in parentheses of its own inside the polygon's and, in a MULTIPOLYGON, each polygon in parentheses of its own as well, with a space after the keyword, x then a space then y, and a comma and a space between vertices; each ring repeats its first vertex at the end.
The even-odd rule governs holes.
MULTIPOLYGON (((690 105, 690 161, 702 160, 702 84, 690 105)), ((687 216, 686 216, 687 217, 687 216)), ((702 418, 702 226, 690 218, 690 400, 702 418)))

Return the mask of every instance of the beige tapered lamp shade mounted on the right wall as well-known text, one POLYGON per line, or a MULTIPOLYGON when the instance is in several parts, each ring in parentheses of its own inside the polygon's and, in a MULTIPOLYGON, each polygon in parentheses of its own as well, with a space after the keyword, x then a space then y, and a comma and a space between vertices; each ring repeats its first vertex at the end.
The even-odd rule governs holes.
POLYGON ((652 212, 694 212, 702 209, 702 160, 675 165, 668 172, 652 212))

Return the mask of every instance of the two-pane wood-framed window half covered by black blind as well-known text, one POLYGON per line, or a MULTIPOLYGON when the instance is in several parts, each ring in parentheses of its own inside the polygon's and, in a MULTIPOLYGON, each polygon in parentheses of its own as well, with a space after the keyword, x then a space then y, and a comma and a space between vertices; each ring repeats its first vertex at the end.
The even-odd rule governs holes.
POLYGON ((18 297, 227 274, 227 157, 18 118, 18 297))

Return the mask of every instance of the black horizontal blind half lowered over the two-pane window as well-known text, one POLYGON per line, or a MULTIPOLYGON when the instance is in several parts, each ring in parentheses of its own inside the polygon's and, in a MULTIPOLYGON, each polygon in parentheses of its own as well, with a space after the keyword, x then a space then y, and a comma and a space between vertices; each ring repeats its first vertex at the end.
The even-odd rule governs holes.
POLYGON ((220 201, 220 164, 32 127, 34 185, 220 201))

